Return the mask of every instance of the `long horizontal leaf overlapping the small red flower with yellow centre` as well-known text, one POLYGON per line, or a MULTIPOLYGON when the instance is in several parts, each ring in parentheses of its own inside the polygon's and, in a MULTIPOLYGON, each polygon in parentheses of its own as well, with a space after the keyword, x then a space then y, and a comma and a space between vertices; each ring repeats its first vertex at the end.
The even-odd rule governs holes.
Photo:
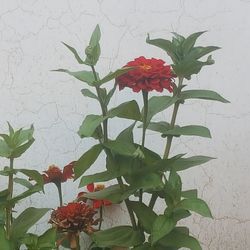
POLYGON ((109 186, 103 190, 84 194, 84 197, 95 200, 109 200, 112 203, 120 203, 126 198, 128 198, 131 194, 135 192, 135 189, 123 185, 120 187, 117 185, 109 186))

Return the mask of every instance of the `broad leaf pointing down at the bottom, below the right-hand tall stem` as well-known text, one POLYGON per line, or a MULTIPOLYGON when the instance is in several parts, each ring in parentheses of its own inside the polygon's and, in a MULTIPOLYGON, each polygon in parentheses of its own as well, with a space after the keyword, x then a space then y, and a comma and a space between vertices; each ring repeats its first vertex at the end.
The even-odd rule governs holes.
POLYGON ((176 223, 172 217, 159 215, 152 225, 152 245, 162 239, 165 235, 169 234, 175 227, 175 224, 176 223))

